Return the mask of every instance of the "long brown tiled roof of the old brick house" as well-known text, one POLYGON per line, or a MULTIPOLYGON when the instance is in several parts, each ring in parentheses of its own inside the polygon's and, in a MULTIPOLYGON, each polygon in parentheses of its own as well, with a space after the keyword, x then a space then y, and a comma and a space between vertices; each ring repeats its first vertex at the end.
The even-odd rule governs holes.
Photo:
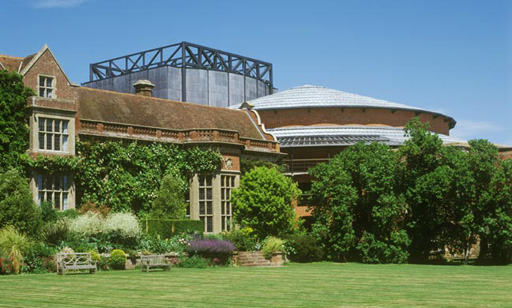
POLYGON ((77 88, 77 92, 78 116, 83 120, 173 130, 231 130, 237 131, 240 137, 267 140, 248 110, 231 110, 86 87, 77 88))

